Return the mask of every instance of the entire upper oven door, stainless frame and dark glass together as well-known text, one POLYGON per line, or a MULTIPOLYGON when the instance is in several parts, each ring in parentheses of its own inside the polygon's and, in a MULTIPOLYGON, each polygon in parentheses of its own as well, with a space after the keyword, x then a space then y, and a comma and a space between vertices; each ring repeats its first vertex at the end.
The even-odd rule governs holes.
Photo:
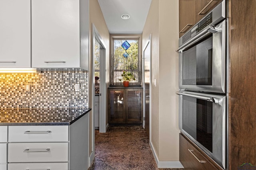
POLYGON ((226 93, 226 20, 210 25, 178 52, 180 89, 226 93))

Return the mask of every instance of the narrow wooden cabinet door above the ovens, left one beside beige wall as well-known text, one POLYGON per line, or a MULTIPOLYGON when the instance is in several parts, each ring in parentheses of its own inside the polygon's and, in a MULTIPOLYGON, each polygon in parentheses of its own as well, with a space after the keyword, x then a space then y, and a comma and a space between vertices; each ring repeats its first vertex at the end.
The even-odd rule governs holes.
POLYGON ((179 37, 196 23, 196 0, 179 0, 179 37))

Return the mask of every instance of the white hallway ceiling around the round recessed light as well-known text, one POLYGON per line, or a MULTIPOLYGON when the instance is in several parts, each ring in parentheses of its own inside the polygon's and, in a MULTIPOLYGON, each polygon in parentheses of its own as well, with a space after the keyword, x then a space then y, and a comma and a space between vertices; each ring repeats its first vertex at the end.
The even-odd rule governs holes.
POLYGON ((98 0, 110 34, 141 34, 151 0, 98 0), (122 14, 130 15, 128 20, 122 14))

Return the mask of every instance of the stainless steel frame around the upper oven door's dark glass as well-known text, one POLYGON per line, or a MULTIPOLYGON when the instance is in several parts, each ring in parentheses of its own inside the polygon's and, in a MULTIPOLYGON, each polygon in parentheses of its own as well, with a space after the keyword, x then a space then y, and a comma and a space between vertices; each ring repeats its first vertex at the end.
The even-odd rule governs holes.
MULTIPOLYGON (((196 86, 196 85, 182 85, 183 78, 183 61, 182 53, 179 54, 179 88, 185 90, 196 90, 204 92, 216 92, 216 93, 226 93, 226 20, 222 21, 216 25, 218 32, 212 34, 212 50, 213 50, 213 61, 212 61, 212 86, 196 86), (220 77, 221 76, 221 77, 220 77)), ((188 46, 182 48, 186 49, 193 45, 194 43, 200 41, 204 37, 207 37, 210 33, 204 32, 204 35, 198 37, 194 42, 190 43, 188 46)), ((227 68, 228 69, 228 68, 227 68)))

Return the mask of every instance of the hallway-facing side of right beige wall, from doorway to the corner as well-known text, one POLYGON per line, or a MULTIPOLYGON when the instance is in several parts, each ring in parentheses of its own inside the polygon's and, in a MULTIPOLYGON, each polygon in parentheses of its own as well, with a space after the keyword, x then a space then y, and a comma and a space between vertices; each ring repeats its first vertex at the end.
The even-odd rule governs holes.
MULTIPOLYGON (((145 47, 146 42, 148 41, 148 37, 151 36, 151 87, 152 94, 150 94, 151 98, 151 142, 156 150, 156 154, 158 156, 159 151, 159 96, 158 96, 158 80, 159 80, 159 0, 152 0, 150 10, 148 12, 148 17, 146 23, 144 25, 143 33, 142 33, 142 48, 145 47), (157 86, 154 87, 153 83, 154 79, 156 79, 157 86)), ((143 53, 143 52, 142 52, 143 53)))

